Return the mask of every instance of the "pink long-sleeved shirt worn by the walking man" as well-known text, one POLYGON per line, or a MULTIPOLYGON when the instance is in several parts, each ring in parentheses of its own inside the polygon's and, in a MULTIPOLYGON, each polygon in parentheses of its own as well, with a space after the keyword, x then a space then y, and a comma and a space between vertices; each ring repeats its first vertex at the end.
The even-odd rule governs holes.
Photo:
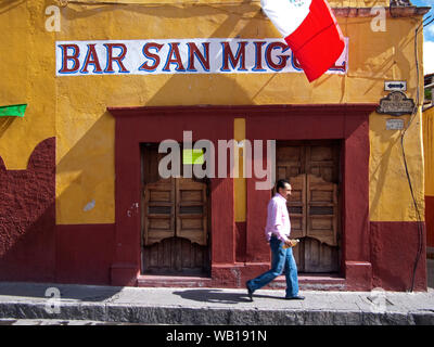
POLYGON ((280 241, 285 242, 290 237, 290 233, 291 222, 286 200, 277 193, 268 203, 265 235, 267 241, 270 241, 271 235, 275 234, 280 241))

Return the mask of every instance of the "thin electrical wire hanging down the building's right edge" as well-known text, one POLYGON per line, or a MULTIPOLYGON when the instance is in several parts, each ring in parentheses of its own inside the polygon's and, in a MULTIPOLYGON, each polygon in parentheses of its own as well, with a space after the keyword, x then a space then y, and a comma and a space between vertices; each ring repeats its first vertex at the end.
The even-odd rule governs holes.
MULTIPOLYGON (((414 259, 414 265, 413 265, 413 269, 412 269, 412 275, 411 275, 411 286, 409 292, 412 293, 413 288, 414 288, 414 279, 416 279, 416 271, 419 265, 419 260, 422 254, 422 249, 423 249, 423 226, 422 226, 422 218, 420 215, 420 210, 419 210, 419 206, 418 206, 418 202, 416 201, 414 197, 414 192, 413 192, 413 187, 411 183, 411 179, 410 179, 410 175, 408 172, 408 166, 407 166, 407 158, 406 158, 406 151, 404 147, 404 137, 408 130, 408 128, 410 127, 411 123, 413 121, 418 110, 419 110, 419 104, 420 104, 420 94, 419 94, 419 56, 418 56, 418 34, 419 34, 419 29, 420 27, 430 18, 431 16, 427 16, 425 20, 422 21, 421 24, 419 24, 419 26, 416 28, 414 30, 414 55, 416 55, 416 70, 417 70, 417 91, 416 91, 416 105, 413 108, 413 112, 411 114, 410 120, 407 125, 407 127, 404 129, 404 131, 401 132, 400 136, 400 145, 401 145, 401 152, 403 152, 403 158, 404 158, 404 166, 406 169, 406 176, 407 176, 407 181, 408 181, 408 185, 410 188, 410 193, 411 193, 411 198, 413 201, 413 205, 414 205, 414 209, 417 213, 417 219, 418 219, 418 252, 416 255, 416 259, 414 259)), ((423 25, 423 27, 425 27, 426 25, 430 25, 433 21, 429 22, 427 24, 423 25)))

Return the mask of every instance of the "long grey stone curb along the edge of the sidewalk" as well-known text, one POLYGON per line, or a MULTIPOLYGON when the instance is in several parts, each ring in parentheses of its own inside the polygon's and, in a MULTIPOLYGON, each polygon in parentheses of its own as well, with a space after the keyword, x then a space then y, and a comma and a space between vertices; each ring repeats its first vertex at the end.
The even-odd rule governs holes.
POLYGON ((190 325, 434 325, 434 311, 265 310, 150 307, 125 304, 62 303, 50 313, 42 303, 0 303, 0 318, 91 320, 190 325))

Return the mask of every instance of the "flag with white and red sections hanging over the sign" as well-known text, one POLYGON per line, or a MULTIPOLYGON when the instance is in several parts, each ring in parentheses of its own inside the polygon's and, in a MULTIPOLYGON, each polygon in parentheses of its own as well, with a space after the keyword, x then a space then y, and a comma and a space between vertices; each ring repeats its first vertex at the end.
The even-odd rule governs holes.
POLYGON ((344 37, 326 0, 260 0, 309 82, 334 65, 345 48, 344 37))

